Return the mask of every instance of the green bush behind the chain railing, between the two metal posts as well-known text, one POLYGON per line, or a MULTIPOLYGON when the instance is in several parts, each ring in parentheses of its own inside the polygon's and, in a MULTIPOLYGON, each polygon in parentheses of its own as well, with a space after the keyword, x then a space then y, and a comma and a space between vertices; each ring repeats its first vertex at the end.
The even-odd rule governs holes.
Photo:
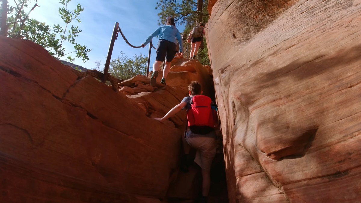
POLYGON ((148 57, 145 57, 142 53, 140 55, 134 55, 131 59, 127 57, 123 52, 116 59, 110 60, 108 72, 113 77, 118 79, 129 79, 136 75, 145 75, 147 73, 148 57))

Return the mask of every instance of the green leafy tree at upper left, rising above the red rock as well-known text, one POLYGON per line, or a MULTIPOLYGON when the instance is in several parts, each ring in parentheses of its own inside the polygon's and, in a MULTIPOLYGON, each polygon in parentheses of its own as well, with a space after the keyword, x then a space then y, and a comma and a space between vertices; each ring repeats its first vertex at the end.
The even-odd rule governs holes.
POLYGON ((70 54, 75 52, 75 57, 81 58, 82 61, 85 62, 89 60, 87 53, 90 52, 91 49, 75 43, 75 38, 79 36, 81 30, 79 30, 78 26, 70 26, 73 20, 81 22, 78 17, 80 13, 84 11, 84 8, 78 4, 76 9, 69 10, 68 3, 70 1, 71 0, 60 0, 59 2, 63 5, 58 9, 60 17, 65 23, 63 28, 60 25, 50 27, 35 19, 29 19, 29 14, 32 10, 34 10, 35 7, 39 7, 37 0, 14 0, 16 6, 9 6, 7 0, 2 0, 0 34, 11 38, 29 39, 47 49, 48 52, 57 59, 66 56, 67 61, 73 62, 74 57, 70 54), (34 6, 26 13, 25 10, 29 8, 29 4, 33 3, 35 3, 34 6), (4 24, 4 19, 6 19, 6 24, 4 24), (64 43, 73 44, 74 51, 66 53, 63 47, 64 43))

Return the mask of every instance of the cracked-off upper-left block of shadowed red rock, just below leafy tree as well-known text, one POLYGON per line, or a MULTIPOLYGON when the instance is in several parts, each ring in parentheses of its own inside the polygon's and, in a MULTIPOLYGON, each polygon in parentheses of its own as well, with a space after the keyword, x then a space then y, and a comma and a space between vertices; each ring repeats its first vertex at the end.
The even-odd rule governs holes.
POLYGON ((54 60, 44 48, 29 40, 0 36, 0 47, 1 70, 27 78, 52 92, 57 98, 61 98, 77 79, 70 68, 54 60), (32 53, 31 56, 29 53, 32 53), (53 81, 55 77, 56 82, 53 81))

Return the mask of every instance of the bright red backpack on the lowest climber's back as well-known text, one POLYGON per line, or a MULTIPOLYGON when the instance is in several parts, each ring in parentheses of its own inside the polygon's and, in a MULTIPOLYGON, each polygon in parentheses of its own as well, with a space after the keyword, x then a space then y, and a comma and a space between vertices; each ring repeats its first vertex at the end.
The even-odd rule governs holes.
POLYGON ((193 96, 187 119, 192 133, 208 134, 218 127, 217 105, 208 96, 193 96))

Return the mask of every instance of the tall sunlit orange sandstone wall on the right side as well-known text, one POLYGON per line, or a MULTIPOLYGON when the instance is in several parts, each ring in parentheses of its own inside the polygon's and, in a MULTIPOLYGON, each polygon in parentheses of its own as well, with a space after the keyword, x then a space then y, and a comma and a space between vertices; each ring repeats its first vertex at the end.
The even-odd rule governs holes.
POLYGON ((359 201, 361 1, 210 9, 230 202, 359 201))

